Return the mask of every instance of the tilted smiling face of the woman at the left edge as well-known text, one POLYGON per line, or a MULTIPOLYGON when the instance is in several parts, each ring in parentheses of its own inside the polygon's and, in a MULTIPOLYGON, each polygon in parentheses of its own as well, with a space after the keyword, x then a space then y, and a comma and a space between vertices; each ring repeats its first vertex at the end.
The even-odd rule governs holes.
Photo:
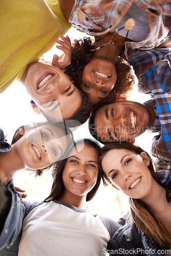
POLYGON ((57 161, 67 150, 67 137, 56 125, 40 125, 26 131, 11 148, 17 150, 25 168, 41 169, 57 161))

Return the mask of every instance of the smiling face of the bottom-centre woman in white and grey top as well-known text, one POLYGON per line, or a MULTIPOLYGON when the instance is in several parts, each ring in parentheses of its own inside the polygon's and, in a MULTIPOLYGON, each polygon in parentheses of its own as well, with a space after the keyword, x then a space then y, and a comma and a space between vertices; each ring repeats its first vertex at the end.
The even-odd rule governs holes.
MULTIPOLYGON (((80 145, 82 148, 82 145, 80 145)), ((73 154, 74 153, 74 154, 73 154)), ((73 196, 87 197, 97 181, 98 154, 95 148, 84 145, 83 149, 67 159, 62 173, 65 193, 68 198, 73 196)), ((73 154, 73 155, 72 155, 73 154)))

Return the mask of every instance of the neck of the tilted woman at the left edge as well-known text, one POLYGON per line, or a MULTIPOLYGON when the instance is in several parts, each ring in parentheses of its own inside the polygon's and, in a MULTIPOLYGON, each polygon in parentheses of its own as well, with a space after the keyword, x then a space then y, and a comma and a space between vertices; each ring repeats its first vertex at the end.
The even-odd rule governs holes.
POLYGON ((4 185, 11 179, 11 177, 17 172, 17 170, 24 169, 25 166, 19 158, 17 151, 13 145, 11 150, 6 153, 2 153, 0 162, 0 179, 4 185))

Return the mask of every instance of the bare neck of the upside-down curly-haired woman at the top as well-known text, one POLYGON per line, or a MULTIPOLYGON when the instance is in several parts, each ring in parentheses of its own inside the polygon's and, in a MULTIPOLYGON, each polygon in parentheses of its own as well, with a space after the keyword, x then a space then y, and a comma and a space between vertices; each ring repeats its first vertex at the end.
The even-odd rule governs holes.
MULTIPOLYGON (((109 42, 112 38, 113 34, 106 34, 107 36, 102 38, 102 36, 96 36, 95 39, 98 40, 95 42, 95 48, 103 46, 107 42, 109 42)), ((94 57, 96 58, 106 58, 113 62, 115 64, 117 57, 119 56, 119 53, 121 52, 121 49, 124 47, 125 37, 116 35, 115 36, 115 45, 109 44, 105 47, 101 48, 98 51, 95 51, 94 57), (120 49, 119 49, 119 48, 120 49)))

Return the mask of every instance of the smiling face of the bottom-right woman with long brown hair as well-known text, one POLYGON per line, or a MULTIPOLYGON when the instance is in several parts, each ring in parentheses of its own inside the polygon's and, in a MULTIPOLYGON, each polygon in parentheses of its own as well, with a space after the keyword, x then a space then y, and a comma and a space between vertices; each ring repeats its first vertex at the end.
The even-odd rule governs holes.
POLYGON ((145 152, 137 155, 130 150, 113 149, 104 155, 101 165, 111 183, 127 196, 143 200, 152 193, 155 180, 147 167, 145 152))

